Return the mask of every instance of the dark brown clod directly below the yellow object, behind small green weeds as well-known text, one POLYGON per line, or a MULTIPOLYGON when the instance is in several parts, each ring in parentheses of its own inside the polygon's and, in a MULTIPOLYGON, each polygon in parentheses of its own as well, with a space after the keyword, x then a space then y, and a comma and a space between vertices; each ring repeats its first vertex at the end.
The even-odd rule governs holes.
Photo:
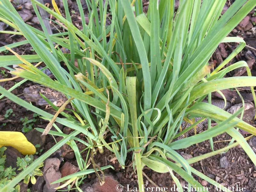
POLYGON ((13 147, 7 146, 6 148, 7 149, 4 151, 4 155, 6 155, 6 160, 5 160, 4 166, 5 167, 12 166, 12 168, 14 168, 14 167, 17 168, 17 163, 16 163, 17 157, 24 158, 24 156, 21 155, 21 153, 13 147))

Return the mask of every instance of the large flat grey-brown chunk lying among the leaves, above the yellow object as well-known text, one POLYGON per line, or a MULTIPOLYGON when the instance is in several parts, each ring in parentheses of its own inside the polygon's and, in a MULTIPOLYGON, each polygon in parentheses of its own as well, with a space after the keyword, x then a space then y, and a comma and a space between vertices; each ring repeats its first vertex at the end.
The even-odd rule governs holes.
POLYGON ((52 90, 48 87, 42 87, 39 85, 32 85, 30 87, 26 87, 23 90, 24 96, 26 100, 31 102, 36 102, 37 105, 49 105, 39 94, 41 92, 44 96, 46 96, 54 105, 60 107, 67 98, 60 92, 52 90))

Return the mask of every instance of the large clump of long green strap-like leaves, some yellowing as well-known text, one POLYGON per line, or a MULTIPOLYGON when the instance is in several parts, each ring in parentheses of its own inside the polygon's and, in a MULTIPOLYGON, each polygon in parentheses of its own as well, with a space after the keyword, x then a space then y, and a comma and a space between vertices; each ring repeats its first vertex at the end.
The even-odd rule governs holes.
POLYGON ((241 145, 256 164, 256 155, 246 142, 250 137, 244 138, 238 132, 238 129, 243 129, 256 135, 255 127, 236 117, 243 113, 243 108, 231 115, 211 102, 202 102, 211 96, 211 92, 221 94, 223 89, 241 86, 250 86, 256 101, 253 90, 256 77, 251 76, 247 63, 239 61, 223 68, 245 46, 243 39, 228 37, 228 34, 256 6, 256 1, 236 0, 221 15, 226 0, 180 0, 177 11, 174 10, 174 0, 150 0, 147 13, 143 13, 142 0, 85 0, 89 17, 86 24, 81 1, 76 0, 82 29, 72 24, 67 0, 62 1, 65 13, 61 14, 54 0, 54 9, 32 0, 43 31, 24 23, 9 0, 0 1, 0 20, 17 31, 17 35, 26 38, 0 47, 1 52, 9 50, 14 54, 0 56, 0 66, 9 69, 12 75, 24 78, 9 90, 0 87, 1 98, 5 96, 50 121, 47 130, 37 130, 63 137, 8 183, 3 191, 13 188, 65 143, 75 151, 80 172, 55 182, 76 181, 76 188, 80 190, 79 184, 86 174, 113 168, 108 165, 87 169, 87 161, 82 158, 75 140, 92 152, 98 149, 102 153, 107 148, 116 155, 123 168, 127 153, 132 151, 140 191, 143 191, 144 166, 156 172, 170 172, 180 191, 183 191, 182 186, 173 172, 197 190, 206 189, 193 178, 192 173, 222 190, 230 191, 190 164, 237 145, 241 145), (64 32, 49 34, 39 7, 50 13, 55 18, 52 20, 54 25, 59 25, 64 32), (111 21, 109 25, 106 25, 107 20, 111 21), (208 61, 218 45, 225 42, 236 42, 238 46, 211 70, 213 66, 208 61), (12 48, 23 44, 30 44, 36 54, 20 56, 12 51, 12 48), (63 53, 61 48, 70 52, 63 53), (44 68, 51 70, 54 79, 31 64, 35 62, 37 65, 44 62, 44 68), (13 64, 19 68, 8 67, 13 64), (248 76, 223 78, 240 67, 247 68, 248 76), (56 107, 42 95, 57 111, 53 116, 11 93, 27 80, 65 94, 68 99, 65 105, 70 102, 72 110, 66 113, 65 105, 56 107), (57 117, 58 114, 62 116, 57 117), (180 132, 182 122, 193 117, 212 119, 218 124, 212 128, 209 124, 205 132, 176 140, 196 127, 198 122, 193 122, 193 126, 180 132), (73 132, 64 134, 54 122, 72 128, 73 132), (52 126, 57 131, 50 131, 52 126), (210 140, 213 149, 212 138, 224 132, 236 142, 188 160, 176 151, 204 140, 210 140), (76 137, 80 133, 84 134, 86 141, 76 137), (106 138, 106 133, 112 136, 106 138))

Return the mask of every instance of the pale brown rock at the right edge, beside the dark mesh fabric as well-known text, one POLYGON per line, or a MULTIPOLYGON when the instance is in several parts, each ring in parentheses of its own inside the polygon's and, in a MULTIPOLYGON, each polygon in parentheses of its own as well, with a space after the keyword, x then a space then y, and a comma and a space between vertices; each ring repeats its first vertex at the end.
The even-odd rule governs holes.
MULTIPOLYGON (((239 104, 236 104, 236 105, 230 107, 227 111, 228 111, 228 113, 234 114, 241 107, 243 107, 243 104, 239 103, 239 104)), ((246 122, 250 122, 254 118, 254 115, 255 115, 254 105, 252 103, 245 103, 244 104, 243 120, 246 122)), ((238 116, 238 117, 240 117, 240 116, 238 116)))

